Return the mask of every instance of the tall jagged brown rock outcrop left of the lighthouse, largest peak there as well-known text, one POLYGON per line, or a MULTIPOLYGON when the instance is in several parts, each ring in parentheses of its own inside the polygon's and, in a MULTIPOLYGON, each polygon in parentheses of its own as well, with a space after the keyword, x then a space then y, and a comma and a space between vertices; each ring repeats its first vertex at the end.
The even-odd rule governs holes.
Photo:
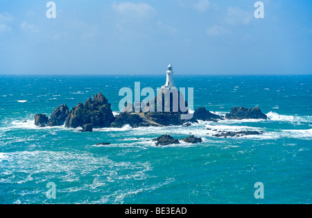
POLYGON ((69 111, 65 126, 77 128, 92 124, 94 128, 109 127, 114 121, 110 106, 108 100, 100 92, 94 95, 93 101, 89 98, 85 103, 78 103, 78 106, 69 111))

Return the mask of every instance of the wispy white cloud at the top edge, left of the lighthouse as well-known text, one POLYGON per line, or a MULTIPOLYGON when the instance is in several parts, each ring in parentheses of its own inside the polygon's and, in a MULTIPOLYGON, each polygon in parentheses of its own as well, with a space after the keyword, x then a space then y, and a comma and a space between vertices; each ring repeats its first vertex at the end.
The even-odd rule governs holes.
POLYGON ((156 13, 156 9, 148 3, 121 2, 119 4, 114 3, 112 8, 119 15, 125 17, 146 18, 156 13))

